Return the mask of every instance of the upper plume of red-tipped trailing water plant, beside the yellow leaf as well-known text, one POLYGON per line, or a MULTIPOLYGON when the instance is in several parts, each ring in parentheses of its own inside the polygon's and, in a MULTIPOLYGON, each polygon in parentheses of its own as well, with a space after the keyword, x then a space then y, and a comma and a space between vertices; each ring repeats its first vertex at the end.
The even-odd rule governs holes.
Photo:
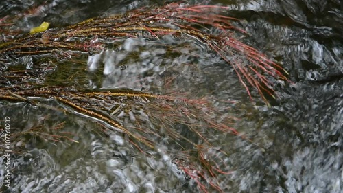
POLYGON ((265 94, 274 97, 273 83, 268 76, 287 81, 283 75, 287 72, 257 49, 235 38, 235 31, 244 34, 244 30, 231 25, 230 21, 238 19, 221 14, 227 10, 217 5, 170 3, 162 8, 141 8, 126 14, 99 16, 64 29, 50 29, 2 43, 0 57, 2 60, 8 56, 42 54, 71 57, 80 52, 101 52, 107 43, 118 37, 158 39, 173 34, 193 38, 206 45, 209 51, 213 49, 233 67, 250 98, 246 82, 268 102, 265 94))

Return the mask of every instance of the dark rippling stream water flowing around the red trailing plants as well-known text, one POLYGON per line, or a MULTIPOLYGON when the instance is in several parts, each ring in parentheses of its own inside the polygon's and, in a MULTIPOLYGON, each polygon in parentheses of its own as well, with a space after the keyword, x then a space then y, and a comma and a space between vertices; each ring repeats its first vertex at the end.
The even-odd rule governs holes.
MULTIPOLYGON (((33 11, 32 16, 24 16, 14 28, 29 31, 42 21, 62 27, 92 16, 159 3, 3 1, 0 17, 19 14, 35 2, 44 5, 33 11)), ((224 192, 343 192, 342 3, 338 0, 211 3, 229 6, 232 11, 228 14, 241 19, 235 25, 249 34, 244 42, 274 58, 289 72, 294 84, 276 82, 279 99, 272 102, 271 108, 259 101, 257 93, 252 93, 255 101, 250 101, 233 69, 206 47, 168 36, 161 41, 119 40, 124 49, 114 60, 120 61, 122 67, 94 67, 93 73, 82 77, 64 75, 61 67, 56 71, 62 72, 65 82, 58 84, 87 88, 144 87, 161 93, 177 90, 211 96, 218 100, 218 108, 230 107, 228 113, 241 119, 235 128, 253 141, 234 136, 218 137, 215 141, 215 145, 230 152, 226 160, 233 173, 218 177, 224 192), (169 56, 161 43, 185 52, 169 56), (111 76, 103 76, 102 72, 111 76), (177 84, 163 88, 161 78, 168 73, 178 74, 177 84), (236 103, 222 106, 220 100, 236 103)), ((102 57, 110 54, 108 51, 102 57)), ((84 69, 87 58, 82 61, 69 73, 78 74, 84 69)), ((47 78, 49 84, 57 84, 59 79, 54 76, 47 78)), ((12 117, 13 130, 36 126, 41 127, 42 133, 58 132, 54 128, 63 122, 63 132, 73 133, 78 143, 47 142, 39 133, 24 135, 25 143, 14 144, 22 152, 12 158, 15 170, 9 190, 3 183, 5 159, 1 157, 3 192, 198 192, 191 185, 183 185, 182 176, 173 171, 169 164, 172 155, 164 153, 168 146, 161 144, 156 152, 150 152, 154 157, 146 157, 119 133, 104 137, 99 132, 103 126, 94 120, 66 113, 64 106, 54 101, 40 103, 45 108, 1 102, 1 117, 12 117)))

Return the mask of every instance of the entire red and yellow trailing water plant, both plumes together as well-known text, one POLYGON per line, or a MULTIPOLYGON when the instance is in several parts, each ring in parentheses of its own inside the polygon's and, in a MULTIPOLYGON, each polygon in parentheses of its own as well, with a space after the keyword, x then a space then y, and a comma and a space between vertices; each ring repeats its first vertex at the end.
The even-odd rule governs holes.
MULTIPOLYGON (((36 78, 42 78, 47 71, 54 71, 54 67, 42 65, 46 58, 72 60, 82 54, 100 53, 119 37, 154 40, 172 35, 206 45, 209 52, 217 53, 233 67, 250 98, 251 86, 268 103, 265 95, 274 97, 270 78, 287 81, 284 75, 286 71, 257 49, 235 38, 235 33, 245 32, 230 23, 238 19, 225 16, 226 11, 228 8, 217 5, 169 3, 163 7, 140 8, 126 14, 99 16, 62 29, 43 32, 34 30, 31 34, 17 34, 16 38, 0 44, 1 65, 6 66, 0 71, 0 99, 37 105, 30 97, 52 98, 77 113, 92 117, 110 130, 122 132, 143 153, 147 148, 157 149, 156 141, 167 136, 169 140, 175 141, 180 152, 183 152, 179 157, 189 160, 170 160, 184 172, 185 179, 196 183, 202 192, 209 192, 210 188, 223 192, 220 183, 215 179, 217 175, 230 173, 226 161, 221 159, 226 152, 217 149, 214 150, 217 157, 209 156, 215 147, 205 136, 239 133, 232 126, 235 119, 222 115, 210 100, 194 98, 191 95, 181 97, 180 93, 158 95, 132 89, 103 91, 52 87, 47 86, 45 81, 30 82, 30 74, 34 73, 36 78), (26 56, 39 59, 40 63, 34 64, 38 70, 8 68, 9 64, 16 60, 30 60, 26 56), (114 116, 117 113, 126 115, 132 124, 123 125, 114 116), (220 121, 218 117, 221 117, 220 121), (184 129, 193 137, 182 135, 184 129), (189 139, 194 137, 198 140, 189 139)), ((0 22, 5 23, 5 20, 6 18, 3 18, 0 22)), ((60 141, 62 138, 73 140, 64 135, 40 133, 40 136, 50 137, 53 141, 60 141)))

